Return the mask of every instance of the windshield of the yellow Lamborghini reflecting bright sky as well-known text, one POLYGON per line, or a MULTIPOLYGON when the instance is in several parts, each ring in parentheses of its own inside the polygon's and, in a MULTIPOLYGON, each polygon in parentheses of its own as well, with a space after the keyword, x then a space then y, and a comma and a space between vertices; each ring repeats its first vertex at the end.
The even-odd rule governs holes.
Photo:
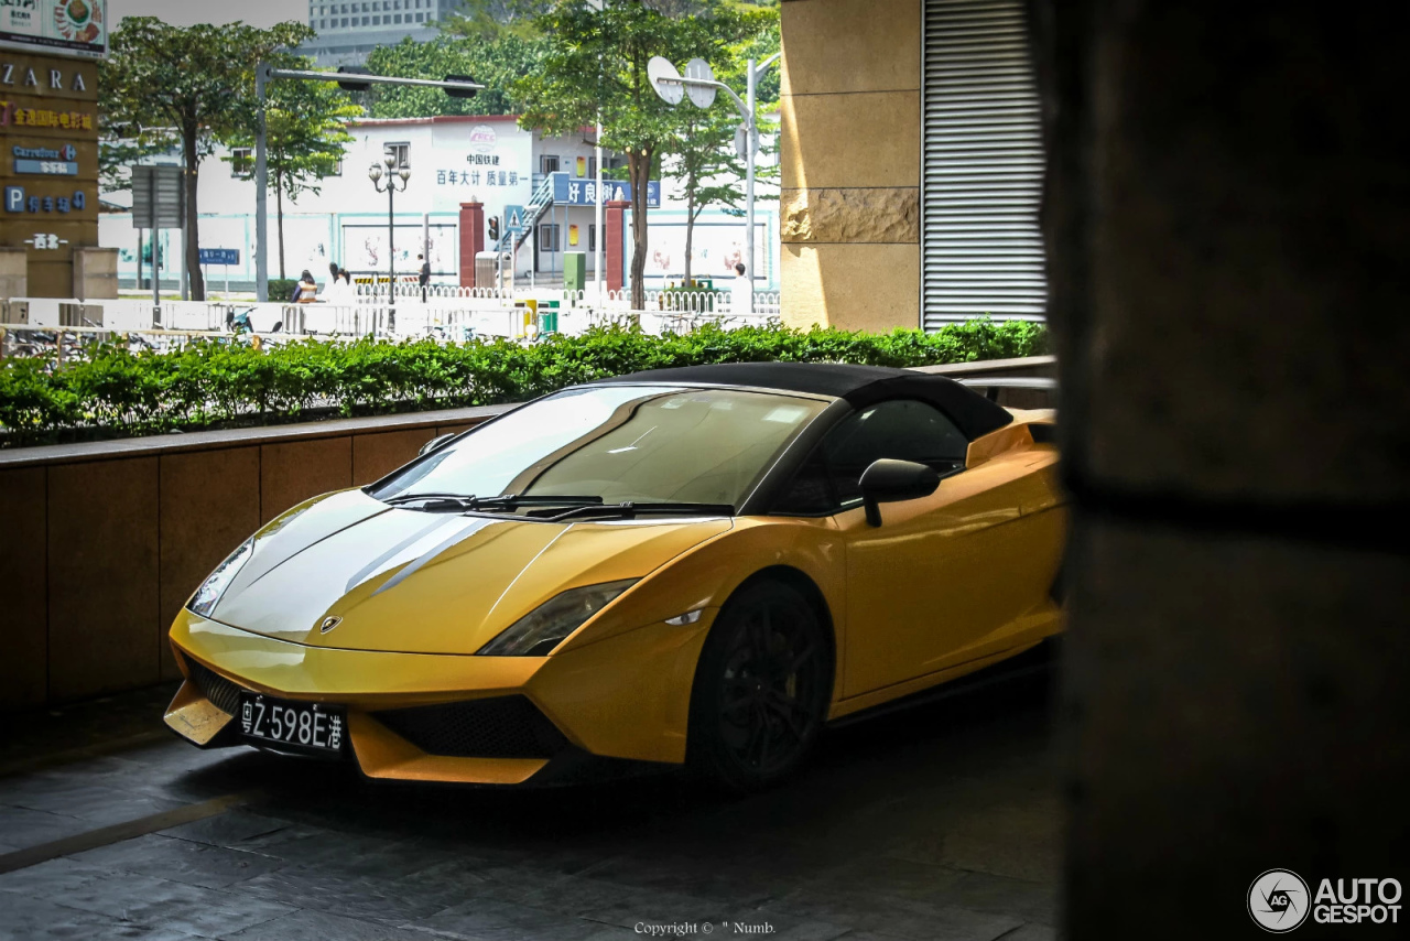
POLYGON ((532 402, 369 491, 739 506, 826 402, 773 392, 595 385, 532 402))

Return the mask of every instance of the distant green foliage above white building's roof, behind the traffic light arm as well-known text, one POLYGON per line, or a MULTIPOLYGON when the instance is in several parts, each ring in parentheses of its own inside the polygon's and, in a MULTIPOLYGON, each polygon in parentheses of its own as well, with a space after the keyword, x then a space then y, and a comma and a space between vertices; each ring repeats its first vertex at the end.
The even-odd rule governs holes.
POLYGON ((537 68, 543 41, 502 35, 486 41, 436 37, 430 42, 410 38, 384 45, 367 58, 376 75, 412 79, 441 79, 470 75, 485 87, 471 99, 448 97, 440 89, 378 85, 372 89, 372 117, 437 117, 441 114, 510 114, 515 103, 509 87, 537 68))

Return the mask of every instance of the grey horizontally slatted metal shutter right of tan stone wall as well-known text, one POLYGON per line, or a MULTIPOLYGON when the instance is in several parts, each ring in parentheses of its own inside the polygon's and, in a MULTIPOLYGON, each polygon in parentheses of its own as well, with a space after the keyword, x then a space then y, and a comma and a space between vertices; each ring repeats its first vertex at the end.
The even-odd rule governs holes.
POLYGON ((924 0, 922 319, 1041 319, 1043 150, 1022 0, 924 0))

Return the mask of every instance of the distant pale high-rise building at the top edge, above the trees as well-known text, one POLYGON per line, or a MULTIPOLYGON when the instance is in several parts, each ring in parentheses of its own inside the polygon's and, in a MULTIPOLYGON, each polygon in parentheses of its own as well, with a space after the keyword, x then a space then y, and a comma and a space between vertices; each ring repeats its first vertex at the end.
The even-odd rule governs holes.
POLYGON ((309 0, 309 25, 319 35, 299 51, 319 65, 360 65, 379 45, 396 45, 406 37, 433 40, 437 30, 430 24, 460 6, 461 0, 309 0))

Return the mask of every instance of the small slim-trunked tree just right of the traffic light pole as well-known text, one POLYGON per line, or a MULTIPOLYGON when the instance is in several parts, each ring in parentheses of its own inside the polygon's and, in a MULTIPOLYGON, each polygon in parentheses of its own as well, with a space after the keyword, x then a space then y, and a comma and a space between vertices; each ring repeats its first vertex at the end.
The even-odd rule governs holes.
MULTIPOLYGON (((313 63, 305 59, 289 65, 310 69, 313 63)), ((337 172, 343 145, 352 140, 344 124, 361 116, 362 109, 352 104, 333 82, 281 79, 266 87, 265 165, 275 198, 281 279, 285 278, 283 199, 288 196, 293 202, 299 193, 319 192, 323 178, 337 172)), ((255 130, 244 128, 224 142, 230 147, 254 147, 255 130)))

